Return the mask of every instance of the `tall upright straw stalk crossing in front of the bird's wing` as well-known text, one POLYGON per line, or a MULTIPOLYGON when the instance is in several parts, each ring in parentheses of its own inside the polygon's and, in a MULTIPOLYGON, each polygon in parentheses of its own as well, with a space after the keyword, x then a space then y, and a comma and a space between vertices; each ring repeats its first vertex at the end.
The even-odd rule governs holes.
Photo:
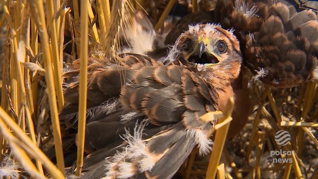
POLYGON ((80 81, 79 81, 79 107, 78 107, 78 134, 77 134, 77 162, 75 174, 80 176, 83 166, 85 125, 86 125, 86 98, 87 98, 87 66, 89 54, 89 25, 88 3, 81 0, 80 21, 80 81))

